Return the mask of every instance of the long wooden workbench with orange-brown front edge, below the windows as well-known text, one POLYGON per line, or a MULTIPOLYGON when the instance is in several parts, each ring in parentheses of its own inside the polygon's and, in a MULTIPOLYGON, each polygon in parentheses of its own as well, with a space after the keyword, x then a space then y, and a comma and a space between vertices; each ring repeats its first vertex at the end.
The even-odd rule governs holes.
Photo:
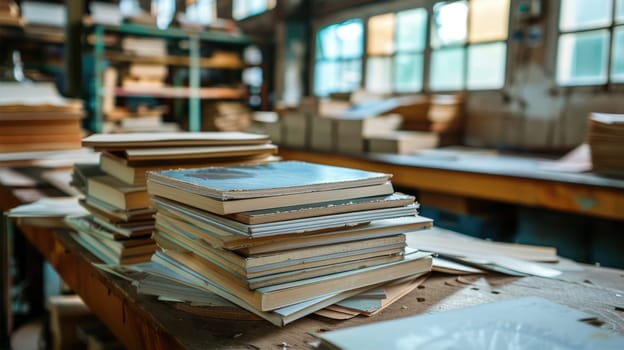
POLYGON ((280 150, 280 156, 390 173, 393 184, 414 190, 624 220, 624 180, 546 171, 535 158, 341 155, 288 149, 280 150))

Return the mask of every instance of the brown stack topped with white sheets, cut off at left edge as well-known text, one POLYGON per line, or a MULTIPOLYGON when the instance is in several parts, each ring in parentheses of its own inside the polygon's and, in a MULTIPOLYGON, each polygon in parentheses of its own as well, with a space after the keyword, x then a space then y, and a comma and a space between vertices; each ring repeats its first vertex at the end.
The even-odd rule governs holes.
POLYGON ((79 149, 82 102, 52 84, 0 83, 0 152, 79 149))

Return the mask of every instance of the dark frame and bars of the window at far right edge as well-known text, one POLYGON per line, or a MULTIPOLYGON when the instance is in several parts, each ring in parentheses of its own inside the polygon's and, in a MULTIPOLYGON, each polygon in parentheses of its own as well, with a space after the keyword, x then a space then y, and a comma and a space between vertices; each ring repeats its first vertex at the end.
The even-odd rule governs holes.
MULTIPOLYGON (((557 88, 559 89, 577 89, 577 88, 608 88, 610 86, 617 86, 617 85, 624 85, 624 79, 622 81, 613 81, 612 77, 611 77, 611 69, 613 68, 613 48, 614 48, 614 33, 616 28, 621 27, 624 28, 624 21, 617 23, 616 22, 616 18, 617 18, 617 2, 618 0, 610 0, 611 1, 611 21, 610 24, 607 26, 594 26, 594 27, 587 27, 587 28, 581 28, 581 29, 574 29, 574 30, 562 30, 561 26, 560 26, 560 21, 561 21, 561 14, 562 14, 562 9, 563 9, 563 1, 564 0, 559 0, 556 2, 557 4, 557 9, 556 9, 556 13, 557 16, 555 17, 555 40, 553 41, 553 45, 554 45, 554 83, 555 86, 557 86, 557 88), (560 52, 559 52, 559 41, 561 40, 561 36, 565 35, 565 34, 582 34, 582 33, 590 33, 590 32, 596 32, 599 30, 606 30, 609 34, 609 39, 607 40, 607 65, 606 65, 606 80, 604 83, 591 83, 591 84, 579 84, 579 83, 574 83, 574 84, 562 84, 559 82, 559 56, 560 56, 560 52)), ((624 1, 622 2, 622 6, 624 6, 624 1)))

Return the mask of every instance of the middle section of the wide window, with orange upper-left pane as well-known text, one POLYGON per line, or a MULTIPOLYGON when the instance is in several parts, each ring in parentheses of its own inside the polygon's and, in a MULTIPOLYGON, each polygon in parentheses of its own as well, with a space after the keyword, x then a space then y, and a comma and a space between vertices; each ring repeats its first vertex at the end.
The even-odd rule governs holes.
POLYGON ((379 93, 421 91, 426 31, 424 8, 371 17, 366 89, 379 93))

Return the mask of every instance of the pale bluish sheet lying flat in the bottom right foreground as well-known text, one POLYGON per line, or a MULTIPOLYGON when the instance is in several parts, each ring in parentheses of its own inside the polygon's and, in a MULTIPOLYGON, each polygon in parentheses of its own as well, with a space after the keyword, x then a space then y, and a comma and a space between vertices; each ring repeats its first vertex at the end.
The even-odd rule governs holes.
POLYGON ((622 349, 595 315, 526 297, 315 334, 319 349, 622 349))

